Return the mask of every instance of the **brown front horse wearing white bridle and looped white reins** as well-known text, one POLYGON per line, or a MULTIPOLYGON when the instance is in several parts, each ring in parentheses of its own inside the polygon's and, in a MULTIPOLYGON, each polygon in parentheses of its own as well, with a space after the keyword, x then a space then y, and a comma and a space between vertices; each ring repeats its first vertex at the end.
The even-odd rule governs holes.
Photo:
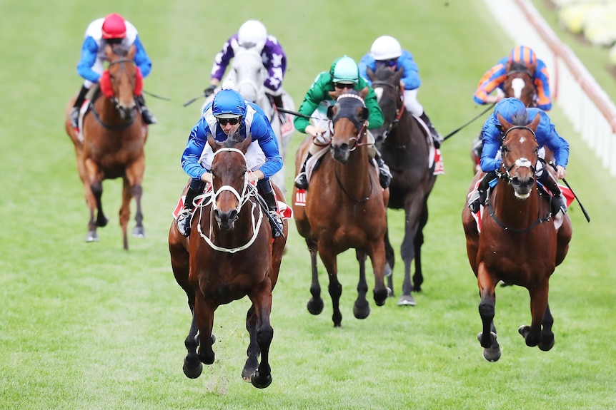
MULTIPOLYGON (((284 235, 272 241, 268 212, 259 205, 257 188, 247 182, 244 154, 251 142, 251 138, 229 138, 218 143, 209 136, 214 151, 212 193, 197 205, 189 238, 180 235, 177 222, 172 222, 169 253, 175 279, 186 292, 192 312, 184 341, 188 350, 184 374, 197 378, 202 363, 214 363, 212 327, 217 307, 248 296, 252 302, 246 317, 250 341, 242 377, 263 389, 272 383, 269 345, 274 329, 269 314, 289 226, 284 220, 284 235)), ((274 190, 282 200, 279 188, 274 185, 274 190)))

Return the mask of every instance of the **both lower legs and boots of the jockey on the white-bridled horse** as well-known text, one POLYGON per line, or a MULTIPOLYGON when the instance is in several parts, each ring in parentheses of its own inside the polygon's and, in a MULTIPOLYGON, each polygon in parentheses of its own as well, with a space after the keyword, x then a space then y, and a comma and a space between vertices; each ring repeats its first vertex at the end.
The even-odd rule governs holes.
MULTIPOLYGON (((177 217, 177 230, 178 232, 189 237, 192 225, 192 215, 194 211, 194 198, 197 195, 201 195, 205 189, 206 183, 199 180, 192 180, 184 199, 184 210, 180 212, 177 217)), ((259 180, 257 183, 257 190, 259 195, 263 198, 267 205, 267 212, 269 213, 269 225, 272 227, 272 237, 275 239, 282 235, 282 217, 278 214, 278 201, 276 195, 272 189, 272 183, 269 182, 269 178, 259 180)))

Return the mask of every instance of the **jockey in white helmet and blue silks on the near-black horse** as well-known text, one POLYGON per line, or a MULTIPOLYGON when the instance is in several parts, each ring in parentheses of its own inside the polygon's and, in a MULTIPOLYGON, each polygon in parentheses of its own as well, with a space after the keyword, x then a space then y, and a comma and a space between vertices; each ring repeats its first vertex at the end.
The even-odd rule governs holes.
POLYGON ((413 55, 407 50, 402 50, 400 43, 392 36, 380 36, 372 43, 370 52, 359 61, 359 75, 371 84, 372 81, 367 76, 367 68, 377 71, 377 66, 386 66, 392 71, 399 68, 404 70, 400 79, 400 86, 404 88, 404 108, 412 116, 421 118, 426 123, 435 145, 439 148, 443 138, 432 125, 424 107, 417 101, 417 93, 422 81, 419 79, 419 67, 414 61, 413 55))

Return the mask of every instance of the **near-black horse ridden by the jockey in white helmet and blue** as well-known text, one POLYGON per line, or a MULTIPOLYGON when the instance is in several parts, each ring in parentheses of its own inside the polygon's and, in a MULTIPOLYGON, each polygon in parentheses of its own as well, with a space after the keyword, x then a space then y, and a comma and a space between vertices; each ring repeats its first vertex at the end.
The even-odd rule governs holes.
MULTIPOLYGON (((372 87, 379 96, 379 106, 383 111, 382 128, 374 130, 374 138, 389 170, 392 183, 389 185, 390 209, 404 210, 404 239, 400 245, 400 257, 404 262, 404 280, 399 306, 414 306, 412 291, 421 292, 424 276, 422 272, 422 245, 424 227, 428 222, 428 196, 434 188, 437 176, 434 163, 430 164, 431 139, 429 132, 419 125, 404 108, 400 91, 400 78, 404 69, 391 71, 379 66, 376 72, 368 68, 372 87), (415 272, 411 282, 411 265, 415 272)), ((385 233, 386 273, 394 269, 394 250, 389 242, 389 229, 385 233)), ((394 294, 393 275, 387 276, 387 284, 394 294)))

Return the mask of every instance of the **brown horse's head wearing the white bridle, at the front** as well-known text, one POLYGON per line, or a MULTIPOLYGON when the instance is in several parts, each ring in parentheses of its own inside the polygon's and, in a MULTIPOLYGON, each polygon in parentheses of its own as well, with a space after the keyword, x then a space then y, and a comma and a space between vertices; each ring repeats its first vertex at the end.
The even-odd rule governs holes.
POLYGON ((249 195, 246 150, 252 138, 236 140, 227 138, 222 143, 208 135, 207 143, 212 147, 212 207, 218 227, 223 231, 232 230, 239 217, 239 210, 249 195))

